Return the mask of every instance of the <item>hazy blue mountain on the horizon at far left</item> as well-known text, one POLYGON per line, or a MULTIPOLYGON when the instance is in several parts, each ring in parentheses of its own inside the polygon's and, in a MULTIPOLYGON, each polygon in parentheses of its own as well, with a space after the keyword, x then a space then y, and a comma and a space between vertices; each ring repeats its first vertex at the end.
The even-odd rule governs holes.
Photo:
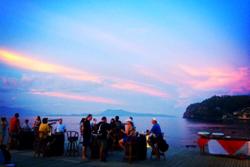
POLYGON ((20 108, 20 107, 6 107, 6 106, 0 106, 0 113, 1 113, 1 116, 4 116, 4 117, 13 116, 15 113, 19 113, 20 117, 46 115, 45 112, 33 111, 33 110, 20 108))

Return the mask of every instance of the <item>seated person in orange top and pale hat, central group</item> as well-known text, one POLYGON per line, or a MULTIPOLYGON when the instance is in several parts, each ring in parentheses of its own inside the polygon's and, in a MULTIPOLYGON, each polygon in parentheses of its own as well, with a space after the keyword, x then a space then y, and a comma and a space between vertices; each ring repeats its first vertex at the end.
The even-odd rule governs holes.
POLYGON ((121 129, 123 138, 119 140, 119 145, 121 148, 125 149, 125 143, 128 141, 129 137, 132 137, 135 134, 135 130, 133 128, 133 122, 131 119, 127 119, 125 123, 125 131, 121 129))

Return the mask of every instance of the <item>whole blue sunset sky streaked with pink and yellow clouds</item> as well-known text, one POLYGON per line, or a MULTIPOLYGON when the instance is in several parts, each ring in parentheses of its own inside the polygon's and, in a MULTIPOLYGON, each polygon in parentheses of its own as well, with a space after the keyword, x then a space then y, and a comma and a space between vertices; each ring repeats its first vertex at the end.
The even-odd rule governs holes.
POLYGON ((181 116, 250 94, 250 2, 0 1, 0 106, 181 116))

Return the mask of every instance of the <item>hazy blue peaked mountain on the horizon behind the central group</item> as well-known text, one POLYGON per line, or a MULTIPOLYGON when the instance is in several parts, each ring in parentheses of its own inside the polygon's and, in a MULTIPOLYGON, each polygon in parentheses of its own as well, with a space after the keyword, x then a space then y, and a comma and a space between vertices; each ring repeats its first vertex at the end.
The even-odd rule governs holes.
POLYGON ((164 115, 164 114, 148 114, 148 113, 134 113, 134 112, 129 112, 129 111, 125 111, 125 110, 122 110, 122 109, 117 109, 117 110, 114 110, 114 109, 107 109, 99 114, 97 114, 99 116, 151 116, 151 117, 173 117, 173 116, 170 116, 170 115, 164 115))

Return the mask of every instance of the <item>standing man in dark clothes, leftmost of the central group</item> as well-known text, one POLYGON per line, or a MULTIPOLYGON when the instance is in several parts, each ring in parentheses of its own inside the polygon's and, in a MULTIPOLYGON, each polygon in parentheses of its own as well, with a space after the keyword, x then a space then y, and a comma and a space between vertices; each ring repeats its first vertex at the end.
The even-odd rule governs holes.
POLYGON ((90 147, 91 142, 91 125, 92 114, 89 114, 83 123, 83 143, 82 143, 82 160, 87 159, 87 147, 90 147))

